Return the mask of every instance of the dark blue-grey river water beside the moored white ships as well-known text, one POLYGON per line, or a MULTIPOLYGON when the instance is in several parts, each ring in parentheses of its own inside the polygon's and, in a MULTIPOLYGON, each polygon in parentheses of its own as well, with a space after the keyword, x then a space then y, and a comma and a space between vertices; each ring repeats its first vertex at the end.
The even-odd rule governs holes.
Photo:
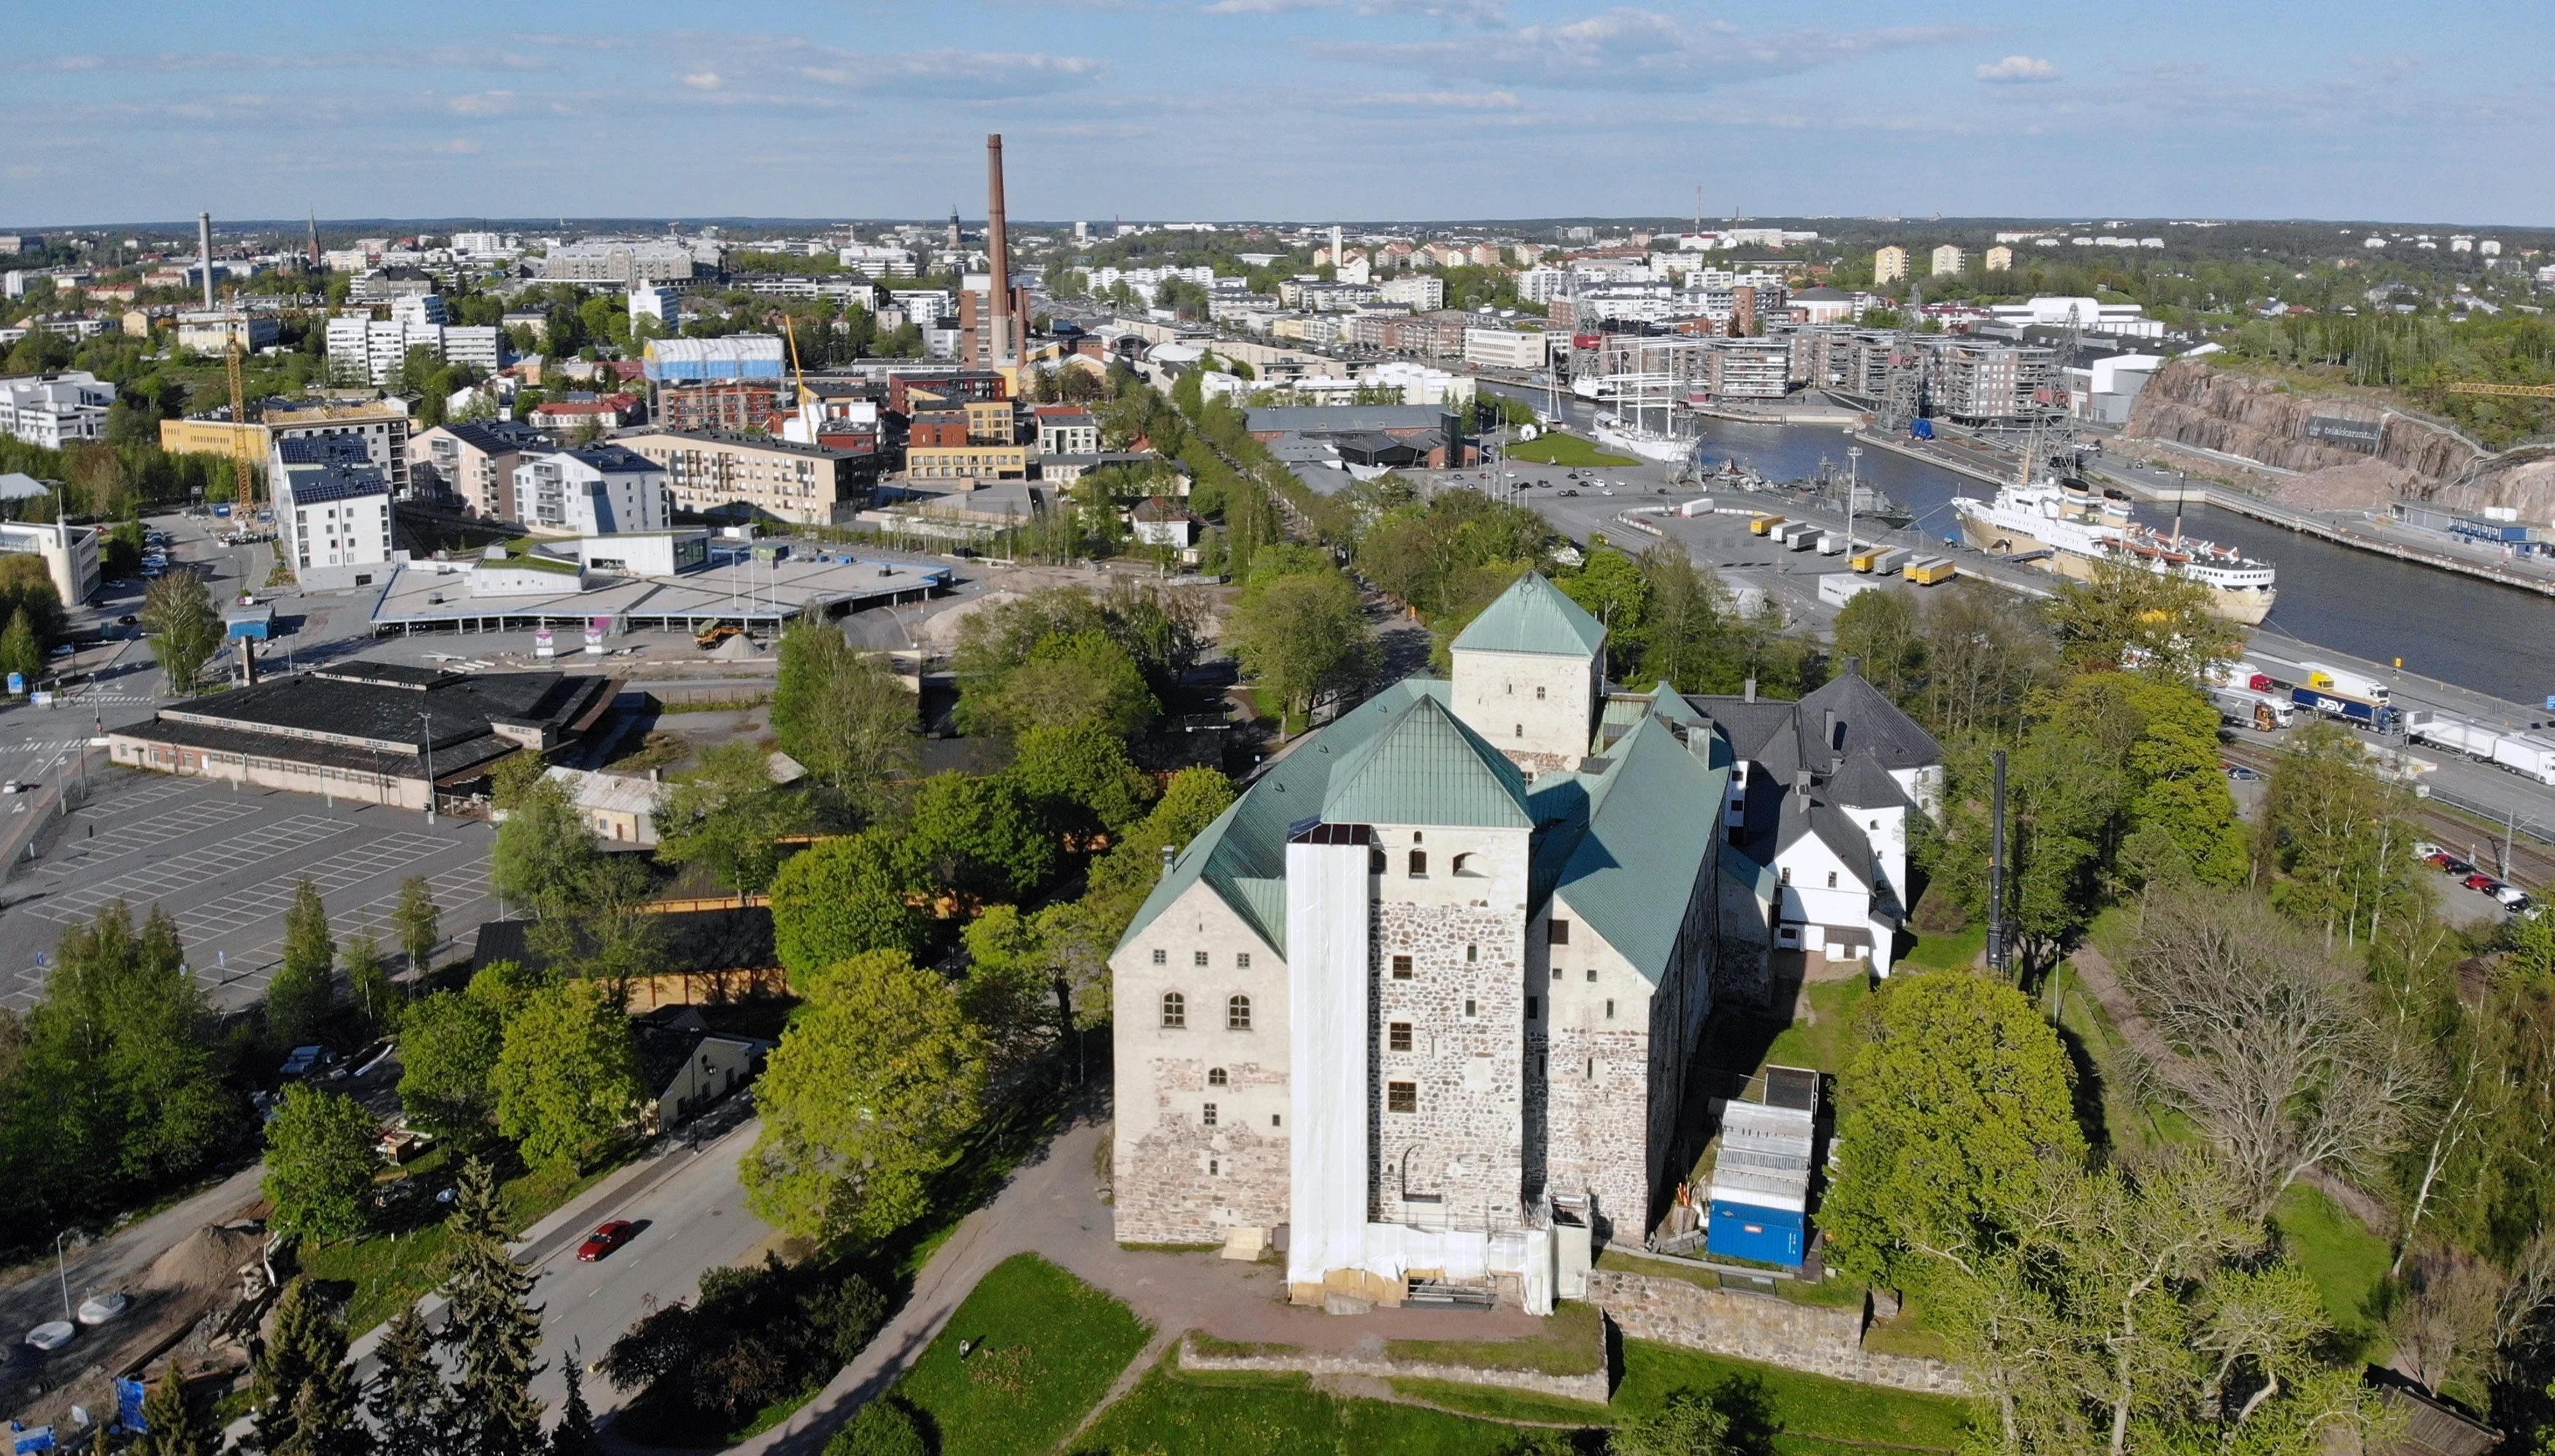
MULTIPOLYGON (((1571 404, 1571 424, 1587 429, 1587 404, 1571 404)), ((1720 419, 1704 419, 1702 437, 1704 460, 1737 460, 1768 480, 1817 475, 1822 457, 1845 470, 1852 444, 1837 427, 1720 419)), ((1952 496, 1990 493, 1983 480, 1888 450, 1865 447, 1857 470, 1865 485, 1914 511, 1916 529, 1934 539, 1957 534, 1952 496)), ((2162 506, 2139 513, 2154 526, 2172 519, 2162 506)), ((2545 702, 2555 695, 2555 598, 2353 552, 2208 506, 2187 508, 2182 529, 2279 567, 2279 603, 2264 623, 2271 631, 2381 664, 2404 659, 2404 672, 2489 697, 2545 702)))

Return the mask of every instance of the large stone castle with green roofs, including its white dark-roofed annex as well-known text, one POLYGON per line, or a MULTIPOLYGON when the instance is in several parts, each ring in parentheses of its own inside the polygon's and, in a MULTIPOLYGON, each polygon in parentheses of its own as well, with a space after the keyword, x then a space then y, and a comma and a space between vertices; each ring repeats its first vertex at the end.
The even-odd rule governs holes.
POLYGON ((1714 996, 1763 996, 1776 943, 1888 966, 1932 792, 1932 738, 1857 677, 1607 690, 1605 628, 1523 577, 1451 682, 1300 741, 1137 912, 1117 1236, 1283 1244, 1298 1303, 1551 1310, 1689 1172, 1714 996))

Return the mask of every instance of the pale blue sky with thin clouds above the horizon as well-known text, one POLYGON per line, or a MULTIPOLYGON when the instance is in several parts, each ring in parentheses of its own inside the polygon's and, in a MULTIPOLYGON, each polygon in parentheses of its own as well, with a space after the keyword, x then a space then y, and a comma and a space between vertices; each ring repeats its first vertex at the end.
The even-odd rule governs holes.
POLYGON ((2555 222, 2545 0, 20 5, 0 225, 2555 222))

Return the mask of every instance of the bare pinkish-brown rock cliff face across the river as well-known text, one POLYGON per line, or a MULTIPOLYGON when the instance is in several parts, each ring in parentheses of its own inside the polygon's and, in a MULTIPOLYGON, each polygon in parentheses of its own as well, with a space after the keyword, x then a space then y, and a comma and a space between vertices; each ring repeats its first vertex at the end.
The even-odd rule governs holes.
POLYGON ((2481 457, 2455 432, 2381 404, 2297 393, 2277 378, 2215 370, 2208 360, 2174 360, 2156 370, 2123 434, 2197 444, 2300 473, 2376 460, 2402 470, 2409 478, 2407 493, 2425 498, 2481 457), (2310 416, 2379 424, 2379 447, 2371 452, 2315 439, 2307 434, 2310 416))

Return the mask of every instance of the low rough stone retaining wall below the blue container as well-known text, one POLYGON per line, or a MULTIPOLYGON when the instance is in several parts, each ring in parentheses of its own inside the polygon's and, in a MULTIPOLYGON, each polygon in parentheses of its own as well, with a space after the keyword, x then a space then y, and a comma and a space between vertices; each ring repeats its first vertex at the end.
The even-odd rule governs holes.
POLYGON ((1857 1384, 1926 1395, 1970 1392, 1960 1372, 1939 1359, 1863 1349, 1863 1310, 1852 1308, 1796 1305, 1776 1295, 1707 1290, 1686 1280, 1620 1270, 1589 1270, 1589 1303, 1602 1308, 1625 1338, 1755 1359, 1857 1384))

